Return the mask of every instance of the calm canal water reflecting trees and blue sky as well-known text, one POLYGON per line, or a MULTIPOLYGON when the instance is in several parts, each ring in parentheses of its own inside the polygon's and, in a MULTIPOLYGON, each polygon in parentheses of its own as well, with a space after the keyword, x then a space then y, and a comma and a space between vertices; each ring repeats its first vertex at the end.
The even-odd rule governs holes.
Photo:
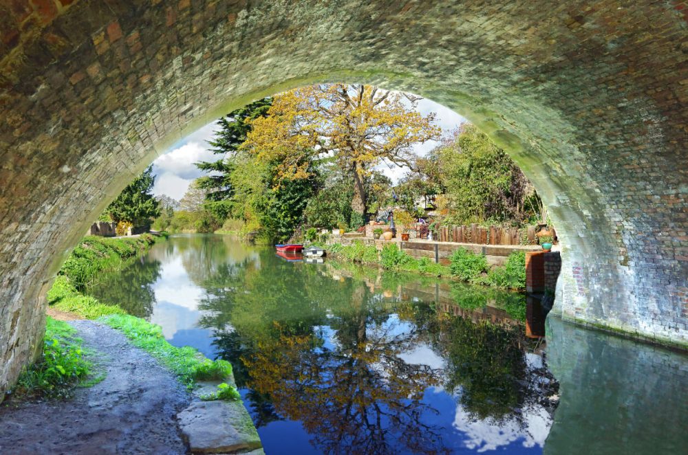
POLYGON ((518 293, 173 236, 90 290, 233 364, 267 454, 686 453, 688 358, 518 293), (556 378, 556 379, 555 379, 556 378))

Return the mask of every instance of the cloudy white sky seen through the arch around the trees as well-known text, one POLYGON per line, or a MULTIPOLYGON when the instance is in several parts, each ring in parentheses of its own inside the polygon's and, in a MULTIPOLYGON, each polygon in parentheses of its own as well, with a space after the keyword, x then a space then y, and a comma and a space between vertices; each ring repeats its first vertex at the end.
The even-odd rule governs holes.
MULTIPOLYGON (((436 113, 435 121, 433 122, 442 129, 442 135, 448 134, 450 131, 456 129, 459 124, 466 120, 455 113, 451 109, 442 106, 431 100, 422 99, 418 102, 416 111, 427 115, 431 112, 436 113)), ((217 156, 213 155, 208 146, 208 140, 213 138, 215 132, 215 122, 208 123, 201 129, 186 136, 173 146, 171 146, 165 153, 160 155, 158 159, 153 162, 153 173, 155 174, 155 186, 153 187, 153 194, 168 195, 173 199, 182 199, 184 193, 189 188, 191 181, 201 177, 203 173, 194 166, 194 163, 200 161, 215 161, 217 156)), ((428 141, 424 144, 416 144, 413 150, 418 155, 425 155, 438 144, 436 141, 428 141)), ((379 166, 378 169, 391 178, 396 183, 405 173, 405 169, 398 166, 389 168, 385 165, 379 166)))

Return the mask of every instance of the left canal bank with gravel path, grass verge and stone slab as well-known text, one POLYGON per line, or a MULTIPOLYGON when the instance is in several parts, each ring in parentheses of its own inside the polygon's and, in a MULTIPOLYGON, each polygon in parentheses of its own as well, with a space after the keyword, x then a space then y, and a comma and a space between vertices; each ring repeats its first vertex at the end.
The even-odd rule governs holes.
POLYGON ((66 403, 10 400, 0 409, 3 423, 8 423, 0 434, 0 448, 262 453, 228 362, 207 359, 191 347, 172 346, 159 326, 128 315, 115 302, 103 304, 89 295, 102 276, 119 273, 131 264, 128 259, 145 254, 166 237, 87 237, 74 249, 48 293, 47 311, 49 317, 69 320, 83 340, 83 351, 77 355, 96 364, 103 378, 77 388, 66 403), (79 418, 65 430, 56 415, 79 418), (35 438, 25 437, 30 421, 43 423, 35 438))

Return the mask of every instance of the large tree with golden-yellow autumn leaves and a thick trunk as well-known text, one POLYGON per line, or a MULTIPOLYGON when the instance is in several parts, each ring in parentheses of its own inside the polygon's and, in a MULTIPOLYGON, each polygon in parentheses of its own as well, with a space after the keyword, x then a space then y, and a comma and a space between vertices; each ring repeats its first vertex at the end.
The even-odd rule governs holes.
POLYGON ((244 150, 277 163, 277 182, 310 177, 330 158, 354 179, 352 209, 365 220, 365 177, 382 162, 413 167, 413 144, 438 139, 434 114, 414 111, 420 98, 371 85, 312 85, 275 96, 266 117, 250 120, 244 150))

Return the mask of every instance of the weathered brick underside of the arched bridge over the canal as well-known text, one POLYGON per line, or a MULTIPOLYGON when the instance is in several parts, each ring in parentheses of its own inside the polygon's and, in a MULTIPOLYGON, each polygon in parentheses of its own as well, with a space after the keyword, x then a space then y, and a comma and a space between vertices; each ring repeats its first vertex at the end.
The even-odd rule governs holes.
POLYGON ((412 91, 533 181, 563 245, 555 312, 688 341, 683 1, 0 3, 0 392, 39 352, 45 291, 162 151, 310 82, 412 91))

